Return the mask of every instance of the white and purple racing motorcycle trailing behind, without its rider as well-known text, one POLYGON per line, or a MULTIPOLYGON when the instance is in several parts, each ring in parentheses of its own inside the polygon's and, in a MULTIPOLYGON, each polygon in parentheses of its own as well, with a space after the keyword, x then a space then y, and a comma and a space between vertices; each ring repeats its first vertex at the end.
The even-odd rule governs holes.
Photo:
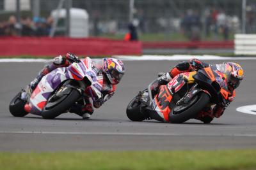
POLYGON ((58 117, 77 103, 84 103, 84 97, 100 99, 102 82, 92 69, 92 59, 77 60, 68 67, 59 67, 45 75, 35 90, 22 99, 21 90, 11 101, 9 110, 14 117, 28 113, 51 119, 58 117), (86 96, 87 95, 87 96, 86 96), (27 110, 24 108, 28 105, 27 110))

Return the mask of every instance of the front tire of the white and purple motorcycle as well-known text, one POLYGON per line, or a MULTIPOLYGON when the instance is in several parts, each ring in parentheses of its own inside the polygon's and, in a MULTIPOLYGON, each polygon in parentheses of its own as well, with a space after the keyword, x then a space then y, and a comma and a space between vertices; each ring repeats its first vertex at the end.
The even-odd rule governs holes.
POLYGON ((65 113, 77 99, 80 97, 80 93, 76 89, 66 89, 67 94, 64 94, 59 99, 54 101, 48 101, 42 111, 42 117, 45 119, 56 118, 61 113, 65 113))

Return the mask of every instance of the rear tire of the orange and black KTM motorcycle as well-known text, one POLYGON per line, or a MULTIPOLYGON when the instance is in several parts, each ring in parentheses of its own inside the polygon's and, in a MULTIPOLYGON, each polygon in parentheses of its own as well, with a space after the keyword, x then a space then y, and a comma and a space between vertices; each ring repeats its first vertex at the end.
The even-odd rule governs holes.
POLYGON ((145 116, 141 113, 141 103, 137 101, 138 96, 134 97, 126 108, 126 115, 132 121, 141 122, 145 120, 145 116))

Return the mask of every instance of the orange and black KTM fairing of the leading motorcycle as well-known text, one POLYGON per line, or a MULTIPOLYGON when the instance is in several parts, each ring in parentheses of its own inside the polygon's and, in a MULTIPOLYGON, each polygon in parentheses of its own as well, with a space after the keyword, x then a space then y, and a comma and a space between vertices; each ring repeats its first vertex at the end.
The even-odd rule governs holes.
MULTIPOLYGON (((195 82, 199 83, 199 87, 200 87, 200 83, 204 83, 205 85, 207 85, 205 87, 202 86, 202 89, 200 87, 199 91, 203 91, 209 96, 212 95, 211 96, 212 98, 220 97, 221 100, 227 99, 228 68, 223 68, 223 67, 224 66, 219 66, 218 68, 220 69, 217 69, 216 66, 205 67, 204 69, 201 69, 198 71, 201 74, 203 74, 203 76, 200 76, 200 75, 198 76, 198 72, 196 71, 178 74, 167 85, 161 85, 159 87, 158 94, 152 97, 153 99, 152 99, 151 107, 158 113, 158 115, 161 118, 163 118, 166 122, 168 122, 169 121, 168 115, 173 110, 173 107, 175 107, 175 103, 177 102, 175 94, 177 94, 177 92, 179 92, 180 89, 184 87, 184 85, 193 84, 195 82), (221 72, 223 71, 223 69, 226 70, 224 73, 221 72), (200 81, 198 81, 199 79, 200 81)), ((190 89, 190 90, 193 91, 193 89, 190 89)), ((193 94, 196 94, 196 93, 198 93, 198 90, 194 89, 193 94)))

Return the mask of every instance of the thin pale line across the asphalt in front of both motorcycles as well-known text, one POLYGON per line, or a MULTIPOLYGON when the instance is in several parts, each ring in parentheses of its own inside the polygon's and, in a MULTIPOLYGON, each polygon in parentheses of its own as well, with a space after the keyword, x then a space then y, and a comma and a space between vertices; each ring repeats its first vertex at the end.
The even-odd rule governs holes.
POLYGON ((131 133, 131 132, 50 132, 50 131, 0 131, 0 134, 81 134, 116 136, 234 136, 256 137, 256 134, 171 134, 171 133, 131 133))

